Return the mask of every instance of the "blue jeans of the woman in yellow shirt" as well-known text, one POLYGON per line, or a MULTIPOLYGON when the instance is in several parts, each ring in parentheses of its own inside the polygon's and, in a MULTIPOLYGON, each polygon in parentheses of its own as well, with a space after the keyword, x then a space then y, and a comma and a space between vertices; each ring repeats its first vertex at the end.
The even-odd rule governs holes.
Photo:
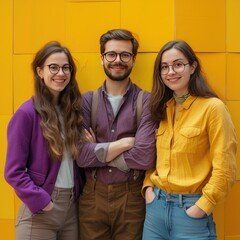
POLYGON ((215 240, 212 214, 191 218, 186 210, 201 194, 168 194, 154 187, 156 197, 146 204, 143 240, 215 240))

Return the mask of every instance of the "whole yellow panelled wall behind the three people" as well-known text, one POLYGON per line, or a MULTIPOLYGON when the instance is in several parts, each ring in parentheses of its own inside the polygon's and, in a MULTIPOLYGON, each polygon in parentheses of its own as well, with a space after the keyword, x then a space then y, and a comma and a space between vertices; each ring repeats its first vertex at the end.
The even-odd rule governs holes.
MULTIPOLYGON (((70 48, 78 62, 82 92, 104 80, 99 37, 127 28, 140 42, 132 79, 151 89, 153 63, 172 39, 190 43, 211 86, 226 102, 240 136, 240 0, 0 0, 0 232, 14 239, 20 201, 3 179, 6 128, 19 105, 33 93, 30 63, 47 41, 70 48)), ((240 155, 238 150, 238 166, 240 155)), ((240 239, 240 173, 227 201, 214 212, 220 240, 240 239)))

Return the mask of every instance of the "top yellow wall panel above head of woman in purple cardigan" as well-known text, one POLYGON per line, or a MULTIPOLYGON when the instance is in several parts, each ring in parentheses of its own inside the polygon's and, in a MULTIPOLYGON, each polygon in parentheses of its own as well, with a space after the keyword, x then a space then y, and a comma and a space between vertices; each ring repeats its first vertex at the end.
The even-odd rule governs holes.
POLYGON ((14 0, 14 53, 35 53, 48 41, 64 42, 65 0, 14 0))

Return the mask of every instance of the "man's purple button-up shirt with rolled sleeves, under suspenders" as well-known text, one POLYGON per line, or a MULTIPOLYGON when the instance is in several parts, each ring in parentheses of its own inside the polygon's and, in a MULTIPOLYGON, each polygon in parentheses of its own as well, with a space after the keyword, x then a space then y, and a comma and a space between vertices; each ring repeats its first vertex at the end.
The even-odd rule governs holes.
MULTIPOLYGON (((141 121, 137 126, 137 96, 140 90, 130 82, 114 115, 105 84, 98 89, 95 126, 97 143, 84 143, 77 160, 79 166, 86 168, 88 178, 92 177, 92 172, 97 167, 98 181, 105 184, 122 183, 133 180, 134 169, 140 170, 140 175, 144 175, 145 170, 155 166, 156 123, 149 111, 148 92, 143 94, 141 121), (135 137, 134 147, 125 151, 112 163, 105 163, 108 143, 123 137, 135 137), (113 167, 114 165, 116 167, 113 167)), ((83 95, 82 108, 86 129, 91 127, 92 96, 92 91, 83 95)))

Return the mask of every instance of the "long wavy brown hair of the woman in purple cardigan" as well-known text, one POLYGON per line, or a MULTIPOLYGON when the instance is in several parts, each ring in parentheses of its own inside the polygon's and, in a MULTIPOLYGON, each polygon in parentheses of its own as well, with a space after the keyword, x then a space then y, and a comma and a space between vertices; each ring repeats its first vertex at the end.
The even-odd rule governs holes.
POLYGON ((70 51, 59 42, 49 42, 35 55, 32 62, 34 73, 34 107, 41 117, 43 136, 47 140, 49 154, 61 160, 64 146, 67 147, 72 159, 79 155, 79 144, 82 140, 81 93, 76 81, 76 65, 70 51), (59 95, 58 106, 64 119, 64 129, 61 129, 54 97, 37 73, 37 68, 43 68, 46 59, 54 53, 65 53, 73 70, 69 84, 59 95), (65 132, 65 139, 62 137, 65 132))

